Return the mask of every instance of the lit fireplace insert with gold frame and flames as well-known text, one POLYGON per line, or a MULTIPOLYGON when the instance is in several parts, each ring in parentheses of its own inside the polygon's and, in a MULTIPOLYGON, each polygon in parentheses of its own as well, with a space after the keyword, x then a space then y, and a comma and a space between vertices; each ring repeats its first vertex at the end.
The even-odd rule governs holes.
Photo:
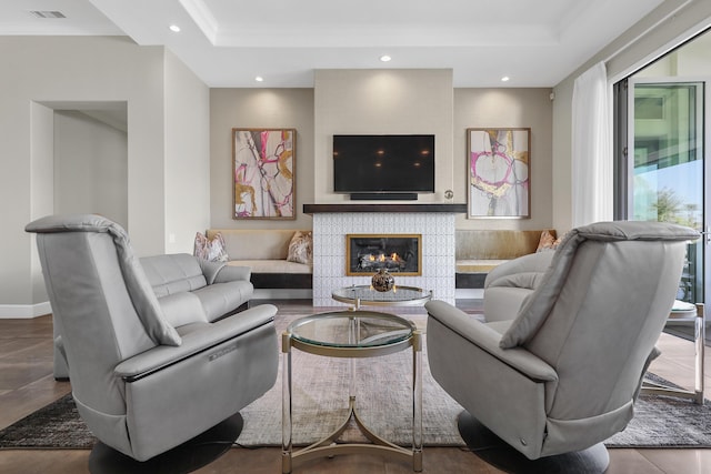
POLYGON ((347 234, 346 274, 372 275, 380 269, 403 276, 422 274, 421 234, 347 234))

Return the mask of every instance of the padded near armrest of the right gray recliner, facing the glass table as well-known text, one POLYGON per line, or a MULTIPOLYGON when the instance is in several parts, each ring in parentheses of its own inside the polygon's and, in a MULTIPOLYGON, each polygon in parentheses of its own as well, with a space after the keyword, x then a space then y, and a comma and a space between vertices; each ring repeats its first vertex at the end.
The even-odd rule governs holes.
POLYGON ((425 307, 428 309, 430 317, 439 321, 472 344, 499 359, 504 364, 523 373, 529 379, 544 382, 558 381, 555 370, 525 349, 501 349, 499 346, 501 333, 485 323, 472 320, 471 316, 463 311, 443 301, 430 301, 425 304, 425 307))

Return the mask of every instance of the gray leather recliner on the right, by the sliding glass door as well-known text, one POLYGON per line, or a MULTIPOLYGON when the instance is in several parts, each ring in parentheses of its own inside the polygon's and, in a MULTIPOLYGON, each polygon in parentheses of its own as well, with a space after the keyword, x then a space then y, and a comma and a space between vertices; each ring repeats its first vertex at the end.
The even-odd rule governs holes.
POLYGON ((482 323, 427 303, 434 380, 525 458, 595 446, 607 466, 602 442, 633 416, 698 238, 672 224, 591 224, 567 235, 515 319, 482 323))

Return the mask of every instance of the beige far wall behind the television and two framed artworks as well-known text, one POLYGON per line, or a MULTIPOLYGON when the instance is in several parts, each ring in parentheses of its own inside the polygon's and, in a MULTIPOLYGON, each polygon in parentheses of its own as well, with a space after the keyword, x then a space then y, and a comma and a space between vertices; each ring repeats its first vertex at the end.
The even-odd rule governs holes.
POLYGON ((452 89, 448 74, 449 71, 417 70, 318 71, 316 89, 212 89, 211 226, 311 228, 311 218, 302 214, 301 204, 346 200, 332 193, 333 133, 437 133, 438 193, 422 196, 421 201, 429 198, 445 202, 443 191, 451 189, 453 202, 465 202, 465 129, 530 127, 531 219, 469 220, 460 215, 457 226, 549 228, 553 188, 551 90, 452 89), (407 103, 411 105, 403 108, 407 103), (232 220, 230 133, 234 127, 297 129, 296 222, 232 220))

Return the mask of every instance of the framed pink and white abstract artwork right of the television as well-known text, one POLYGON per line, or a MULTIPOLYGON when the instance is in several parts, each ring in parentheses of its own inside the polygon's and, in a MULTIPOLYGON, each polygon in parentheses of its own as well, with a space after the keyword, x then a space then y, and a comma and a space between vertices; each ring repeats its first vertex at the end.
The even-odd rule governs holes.
POLYGON ((531 129, 467 129, 469 219, 531 216, 531 129))

